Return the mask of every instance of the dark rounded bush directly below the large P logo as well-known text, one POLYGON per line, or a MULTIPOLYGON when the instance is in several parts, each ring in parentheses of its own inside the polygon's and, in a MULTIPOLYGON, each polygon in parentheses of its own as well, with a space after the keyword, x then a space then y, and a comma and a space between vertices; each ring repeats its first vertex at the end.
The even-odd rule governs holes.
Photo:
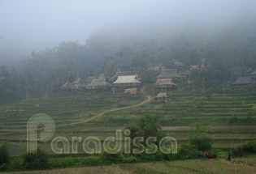
POLYGON ((37 148, 37 153, 29 153, 24 155, 24 168, 49 168, 49 155, 40 147, 37 148))

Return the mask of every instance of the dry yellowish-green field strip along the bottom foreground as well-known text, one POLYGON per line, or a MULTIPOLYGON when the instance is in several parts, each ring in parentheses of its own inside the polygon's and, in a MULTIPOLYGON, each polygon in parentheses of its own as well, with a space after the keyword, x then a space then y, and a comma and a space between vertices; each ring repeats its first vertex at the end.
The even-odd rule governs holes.
MULTIPOLYGON (((191 159, 177 160, 171 162, 154 163, 127 163, 111 166, 86 167, 86 168, 63 168, 40 171, 41 174, 51 173, 106 173, 106 174, 254 174, 256 173, 256 157, 232 159, 191 159), (248 162, 249 161, 249 162, 248 162)), ((4 172, 8 173, 8 172, 4 172)), ((9 172, 10 173, 10 172, 9 172)), ((31 172, 11 172, 11 173, 38 173, 31 172)))

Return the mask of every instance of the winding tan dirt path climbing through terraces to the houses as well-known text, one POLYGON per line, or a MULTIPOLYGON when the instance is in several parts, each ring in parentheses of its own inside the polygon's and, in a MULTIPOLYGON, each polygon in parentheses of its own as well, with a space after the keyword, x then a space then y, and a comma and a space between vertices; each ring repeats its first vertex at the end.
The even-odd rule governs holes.
POLYGON ((64 126, 67 126, 67 125, 78 125, 80 123, 86 123, 86 122, 89 122, 89 121, 93 121, 94 119, 98 118, 98 117, 101 117, 102 115, 104 115, 105 113, 108 113, 108 112, 114 112, 114 111, 119 111, 119 110, 122 110, 122 109, 125 109, 125 108, 133 108, 133 107, 137 107, 137 106, 140 106, 142 104, 146 104, 146 103, 149 103, 153 97, 151 95, 147 95, 145 94, 145 86, 143 86, 141 88, 141 93, 143 95, 146 95, 147 96, 147 99, 142 101, 140 104, 134 104, 134 105, 131 105, 131 106, 125 106, 125 107, 122 107, 122 108, 113 108, 111 110, 107 110, 107 111, 104 111, 104 112, 101 112, 99 113, 98 115, 96 116, 93 116, 93 117, 89 117, 88 119, 86 119, 85 121, 79 121, 79 122, 75 122, 75 123, 70 123, 70 124, 65 124, 65 125, 57 125, 56 127, 64 127, 64 126))

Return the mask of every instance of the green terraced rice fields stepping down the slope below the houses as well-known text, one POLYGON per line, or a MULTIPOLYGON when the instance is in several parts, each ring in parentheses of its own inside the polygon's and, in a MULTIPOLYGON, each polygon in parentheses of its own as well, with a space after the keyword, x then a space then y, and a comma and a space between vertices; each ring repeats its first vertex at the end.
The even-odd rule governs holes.
MULTIPOLYGON (((152 95, 156 95, 153 92, 152 95)), ((45 96, 39 100, 24 100, 17 104, 0 107, 0 142, 11 144, 11 155, 21 155, 26 150, 26 124, 37 113, 46 113, 55 121, 54 137, 72 136, 82 139, 97 136, 105 139, 124 129, 126 124, 136 123, 144 114, 163 118, 163 130, 177 139, 187 141, 190 125, 201 123, 215 139, 214 146, 236 146, 256 138, 256 96, 249 93, 220 94, 206 99, 199 93, 171 91, 169 103, 150 102, 137 107, 106 112, 101 117, 84 123, 86 119, 113 108, 135 105, 145 100, 145 95, 124 95, 117 92, 61 93, 45 96), (79 124, 80 122, 80 124, 79 124), (76 125, 71 125, 76 123, 76 125), (77 124, 78 123, 78 124, 77 124), (62 125, 59 127, 59 125, 62 125)), ((50 152, 50 142, 41 143, 50 152)), ((81 146, 79 151, 82 152, 81 146)))

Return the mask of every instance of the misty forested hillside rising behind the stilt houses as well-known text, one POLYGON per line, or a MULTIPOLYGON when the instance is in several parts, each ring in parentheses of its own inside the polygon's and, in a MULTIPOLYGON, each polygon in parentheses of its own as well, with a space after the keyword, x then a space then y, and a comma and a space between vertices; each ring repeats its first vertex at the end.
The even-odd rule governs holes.
POLYGON ((116 70, 136 70, 142 83, 147 83, 155 75, 150 67, 172 68, 174 61, 184 64, 181 71, 191 65, 206 66, 191 74, 196 87, 228 85, 255 70, 255 31, 246 26, 216 30, 190 26, 139 34, 95 32, 85 45, 63 42, 32 52, 18 66, 1 66, 0 97, 7 99, 1 103, 58 92, 63 83, 78 77, 86 80, 105 73, 111 78, 116 70))

